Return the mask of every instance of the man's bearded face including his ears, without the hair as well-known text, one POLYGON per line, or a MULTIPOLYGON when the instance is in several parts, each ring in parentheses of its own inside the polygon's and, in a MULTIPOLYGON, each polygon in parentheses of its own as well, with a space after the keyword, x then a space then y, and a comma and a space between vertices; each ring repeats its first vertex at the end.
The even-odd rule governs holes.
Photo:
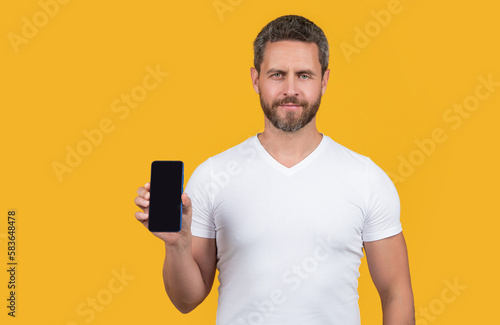
POLYGON ((264 115, 274 127, 294 132, 316 116, 329 71, 321 78, 315 43, 268 42, 260 74, 251 72, 264 115))

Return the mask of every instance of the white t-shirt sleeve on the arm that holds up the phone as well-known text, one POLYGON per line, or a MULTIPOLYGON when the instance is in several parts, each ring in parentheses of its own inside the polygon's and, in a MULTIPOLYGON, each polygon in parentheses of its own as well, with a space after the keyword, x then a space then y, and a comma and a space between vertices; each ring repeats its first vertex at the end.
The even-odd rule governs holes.
POLYGON ((195 169, 185 192, 192 204, 191 233, 196 237, 215 238, 210 158, 195 169))

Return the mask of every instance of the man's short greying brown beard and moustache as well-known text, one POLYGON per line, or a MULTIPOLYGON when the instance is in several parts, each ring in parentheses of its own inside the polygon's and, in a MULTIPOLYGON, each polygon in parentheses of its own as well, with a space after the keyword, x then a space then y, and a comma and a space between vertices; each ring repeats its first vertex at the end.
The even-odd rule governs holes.
POLYGON ((319 105, 321 104, 321 94, 312 104, 309 104, 309 102, 305 100, 299 101, 295 97, 288 96, 281 100, 273 101, 271 106, 269 106, 262 99, 262 95, 259 94, 259 97, 264 115, 274 125, 274 127, 285 132, 295 132, 309 124, 309 122, 311 122, 316 116, 319 105), (280 114, 278 114, 278 106, 288 103, 302 106, 302 112, 287 111, 285 112, 284 117, 280 117, 280 114))

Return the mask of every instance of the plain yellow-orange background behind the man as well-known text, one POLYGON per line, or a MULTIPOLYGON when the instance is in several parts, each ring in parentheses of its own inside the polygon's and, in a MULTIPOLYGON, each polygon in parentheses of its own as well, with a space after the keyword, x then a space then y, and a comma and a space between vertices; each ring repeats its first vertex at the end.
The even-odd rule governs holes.
MULTIPOLYGON (((420 157, 395 181, 417 324, 498 319, 500 88, 460 126, 459 115, 453 123, 444 117, 473 102, 481 76, 500 81, 495 1, 72 0, 57 10, 41 3, 52 3, 46 20, 35 0, 0 5, 2 324, 214 323, 216 286, 188 315, 169 302, 162 243, 135 220, 133 200, 152 160, 182 159, 187 180, 209 156, 262 131, 252 42, 284 14, 313 20, 330 43, 319 130, 393 179, 402 159, 420 157), (214 3, 226 11, 219 15, 214 3), (399 12, 377 29, 372 10, 390 6, 399 12), (23 27, 34 19, 36 31, 23 27), (369 44, 343 53, 367 27, 369 44), (13 45, 14 34, 25 42, 13 45), (147 67, 168 76, 128 116, 113 111, 115 100, 138 91, 147 67), (112 131, 60 181, 54 162, 66 164, 68 146, 76 150, 103 120, 112 131), (436 129, 446 141, 422 156, 416 141, 436 129), (18 229, 15 319, 5 308, 9 209, 18 229), (114 272, 129 280, 116 282, 114 272), (461 289, 453 293, 446 281, 461 289), (92 309, 92 299, 106 304, 92 309)), ((365 263, 359 292, 362 323, 381 324, 365 263)))

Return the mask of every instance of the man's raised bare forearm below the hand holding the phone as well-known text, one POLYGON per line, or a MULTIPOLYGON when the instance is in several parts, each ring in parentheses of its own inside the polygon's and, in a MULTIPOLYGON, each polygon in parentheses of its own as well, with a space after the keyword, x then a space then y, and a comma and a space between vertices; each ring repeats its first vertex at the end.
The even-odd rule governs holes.
POLYGON ((182 313, 192 311, 206 298, 207 287, 190 245, 165 245, 163 283, 170 300, 182 313))

